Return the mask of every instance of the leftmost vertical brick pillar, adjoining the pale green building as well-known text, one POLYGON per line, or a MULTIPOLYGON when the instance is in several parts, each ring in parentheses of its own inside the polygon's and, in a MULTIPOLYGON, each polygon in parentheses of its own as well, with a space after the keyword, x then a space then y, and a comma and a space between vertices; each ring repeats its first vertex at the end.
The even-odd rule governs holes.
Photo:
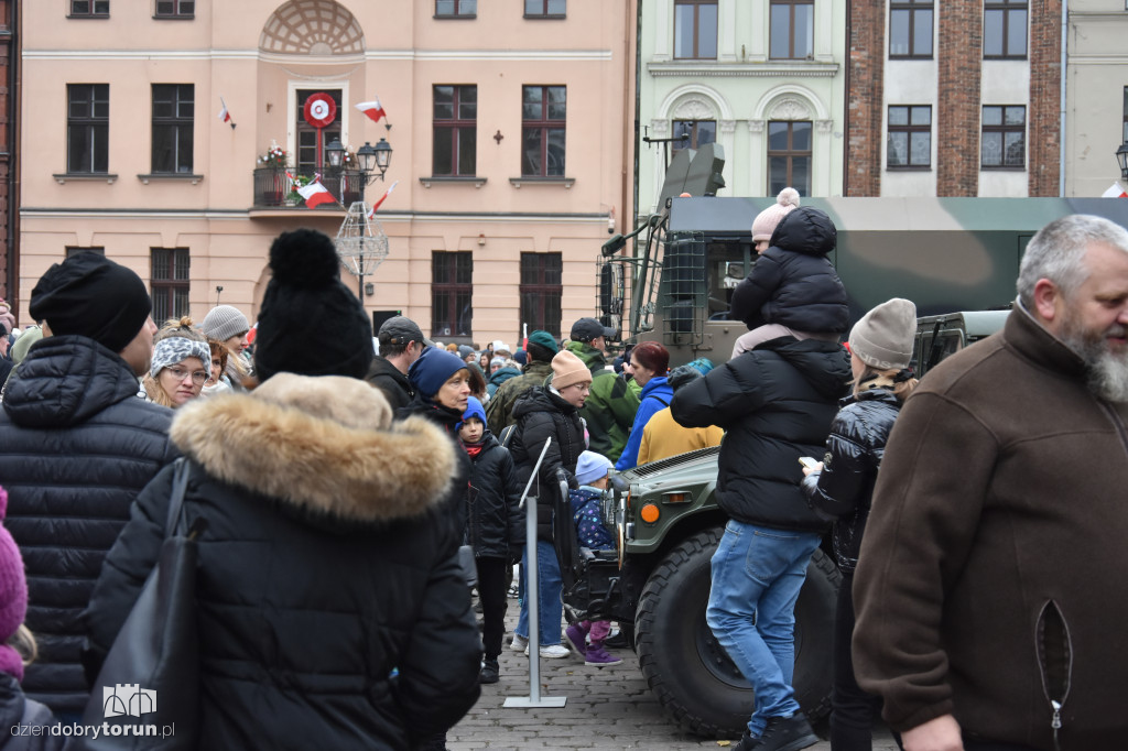
POLYGON ((881 195, 885 3, 851 3, 846 195, 881 195))

